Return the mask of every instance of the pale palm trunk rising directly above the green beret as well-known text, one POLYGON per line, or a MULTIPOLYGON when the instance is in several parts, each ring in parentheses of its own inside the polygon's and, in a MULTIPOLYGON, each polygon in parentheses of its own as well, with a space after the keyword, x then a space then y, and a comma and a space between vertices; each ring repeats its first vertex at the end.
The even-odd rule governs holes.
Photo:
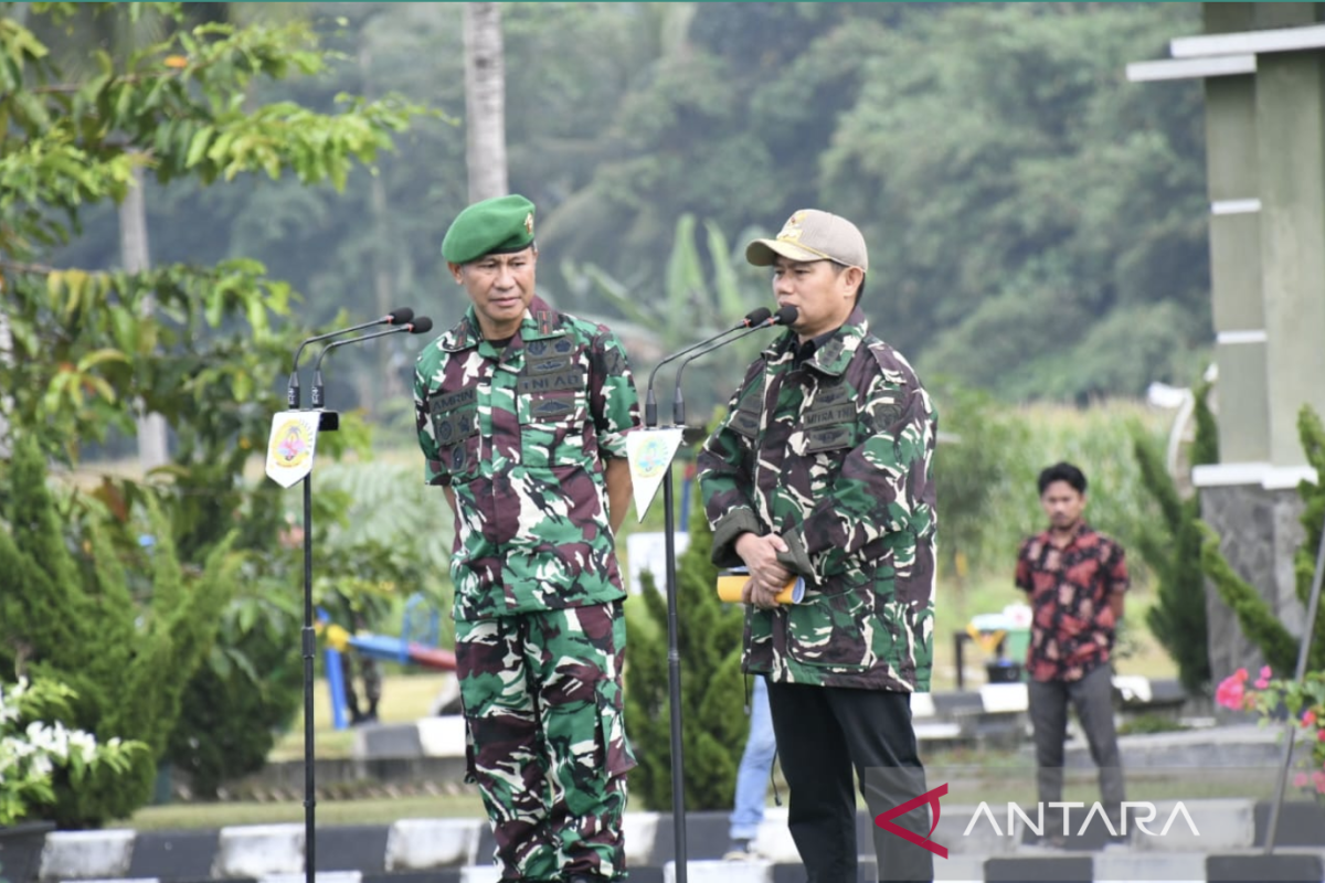
POLYGON ((505 196, 506 64, 496 3, 465 4, 465 118, 469 201, 505 196))

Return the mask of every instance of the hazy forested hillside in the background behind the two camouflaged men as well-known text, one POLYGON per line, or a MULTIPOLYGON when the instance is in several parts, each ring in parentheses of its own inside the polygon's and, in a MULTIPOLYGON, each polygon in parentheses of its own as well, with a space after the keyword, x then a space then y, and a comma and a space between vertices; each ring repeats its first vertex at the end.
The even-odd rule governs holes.
MULTIPOLYGON (((466 119, 464 9, 307 9, 347 58, 254 82, 250 101, 325 110, 341 90, 398 91, 445 116, 341 197, 289 179, 150 193, 154 257, 258 259, 315 322, 391 297, 457 315, 437 249, 468 200, 466 126, 448 122, 466 119)), ((739 248, 822 205, 864 228, 867 312, 925 375, 1084 401, 1185 385, 1206 353, 1200 90, 1122 77, 1199 29, 1195 7, 517 3, 501 29, 509 187, 539 207, 553 302, 625 318, 555 267, 594 265, 659 303, 682 216, 739 248)), ((110 218, 90 214, 87 233, 62 258, 113 262, 110 218)), ((408 361, 330 392, 399 413, 408 361)))

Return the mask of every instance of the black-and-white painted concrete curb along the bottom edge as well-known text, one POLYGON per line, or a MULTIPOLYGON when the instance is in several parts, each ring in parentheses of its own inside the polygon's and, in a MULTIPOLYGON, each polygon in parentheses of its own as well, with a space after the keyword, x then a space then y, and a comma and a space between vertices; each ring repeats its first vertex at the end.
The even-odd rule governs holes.
MULTIPOLYGON (((1177 825, 1165 841, 1130 851, 1028 854, 1012 831, 963 831, 971 806, 945 806, 934 839, 950 855, 937 864, 942 880, 1325 880, 1325 808, 1289 804, 1276 855, 1263 857, 1268 806, 1251 800, 1185 801, 1200 829, 1192 838, 1177 825), (1256 864, 1268 862, 1264 867, 1256 864), (1261 867, 1261 870, 1253 870, 1261 867), (1317 870, 1318 868, 1318 874, 1317 870), (1251 874, 1251 876, 1238 876, 1251 874), (1264 874, 1264 876, 1259 876, 1264 874), (1302 876, 1305 874, 1305 876, 1302 876), (1312 876, 1314 874, 1314 876, 1312 876)), ((1161 817, 1165 809, 1159 806, 1161 817)), ((721 862, 726 813, 686 817, 689 876, 694 883, 802 883, 804 870, 787 830, 784 808, 770 808, 755 846, 759 862, 721 862)), ((668 883, 674 876, 670 814, 627 813, 631 883, 668 883)), ((857 817, 857 843, 871 853, 872 822, 857 817)), ((318 830, 317 883, 497 883, 489 864, 486 821, 401 819, 392 825, 318 830)), ((54 831, 41 857, 42 883, 303 883, 303 826, 252 825, 215 831, 54 831)), ((861 872, 872 879, 873 859, 861 872)), ((16 880, 15 883, 26 883, 16 880)))

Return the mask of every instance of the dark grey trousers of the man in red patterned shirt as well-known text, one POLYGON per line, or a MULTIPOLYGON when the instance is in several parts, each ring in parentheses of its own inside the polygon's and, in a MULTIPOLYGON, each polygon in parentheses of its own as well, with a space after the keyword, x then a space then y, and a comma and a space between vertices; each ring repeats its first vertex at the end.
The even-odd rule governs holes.
POLYGON ((1100 802, 1120 834, 1124 781, 1118 733, 1113 728, 1113 678, 1109 666, 1096 666, 1080 680, 1032 680, 1028 684, 1031 725, 1035 727, 1036 785, 1044 804, 1045 835, 1068 834, 1063 810, 1049 804, 1063 801, 1063 743, 1068 732, 1068 703, 1076 708, 1090 745, 1090 759, 1100 768, 1100 802))

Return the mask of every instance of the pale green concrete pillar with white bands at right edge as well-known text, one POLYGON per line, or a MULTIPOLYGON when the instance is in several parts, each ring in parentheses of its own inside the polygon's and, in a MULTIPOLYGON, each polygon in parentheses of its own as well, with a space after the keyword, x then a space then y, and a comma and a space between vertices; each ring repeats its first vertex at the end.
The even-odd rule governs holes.
MULTIPOLYGON (((1310 25, 1316 4, 1203 4, 1206 33, 1310 25)), ((1297 412, 1325 414, 1325 56, 1261 53, 1255 74, 1206 79, 1218 466, 1198 467, 1202 518, 1232 569, 1301 635, 1293 552, 1305 457, 1297 412)), ((1218 682, 1263 665, 1211 585, 1218 682)))

